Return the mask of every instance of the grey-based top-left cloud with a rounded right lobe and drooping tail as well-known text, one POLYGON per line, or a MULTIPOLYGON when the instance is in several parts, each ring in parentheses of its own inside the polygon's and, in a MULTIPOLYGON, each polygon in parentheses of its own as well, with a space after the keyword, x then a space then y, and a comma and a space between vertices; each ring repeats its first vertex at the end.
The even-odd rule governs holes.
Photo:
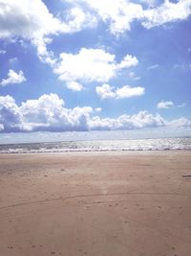
POLYGON ((0 38, 24 38, 37 48, 38 57, 53 64, 53 53, 47 50, 52 35, 71 34, 94 26, 96 18, 73 8, 63 19, 53 16, 41 0, 0 0, 0 38))

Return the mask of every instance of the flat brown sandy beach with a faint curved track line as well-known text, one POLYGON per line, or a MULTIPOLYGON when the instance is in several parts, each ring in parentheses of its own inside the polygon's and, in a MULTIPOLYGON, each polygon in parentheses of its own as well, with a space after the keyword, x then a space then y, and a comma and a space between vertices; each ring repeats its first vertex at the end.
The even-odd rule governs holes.
POLYGON ((191 151, 0 154, 0 255, 191 255, 191 151))

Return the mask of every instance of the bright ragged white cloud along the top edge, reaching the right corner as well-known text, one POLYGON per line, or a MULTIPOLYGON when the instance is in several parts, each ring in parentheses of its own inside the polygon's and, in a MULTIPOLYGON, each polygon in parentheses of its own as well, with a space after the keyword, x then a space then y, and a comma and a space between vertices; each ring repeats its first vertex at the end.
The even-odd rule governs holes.
POLYGON ((155 0, 141 0, 139 3, 125 0, 67 0, 78 3, 82 9, 96 12, 97 19, 109 24, 114 35, 131 30, 131 23, 135 20, 141 22, 146 29, 184 20, 191 14, 191 1, 180 0, 176 3, 165 0, 158 5, 155 0), (145 3, 147 7, 145 7, 145 3), (143 5, 142 5, 143 4, 143 5))

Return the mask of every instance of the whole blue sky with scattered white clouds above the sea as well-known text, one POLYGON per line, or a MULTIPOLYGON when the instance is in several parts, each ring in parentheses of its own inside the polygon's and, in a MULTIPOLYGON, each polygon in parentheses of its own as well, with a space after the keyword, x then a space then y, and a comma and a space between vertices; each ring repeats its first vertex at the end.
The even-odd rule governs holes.
POLYGON ((1 139, 147 128, 191 131, 191 0, 0 0, 1 139))

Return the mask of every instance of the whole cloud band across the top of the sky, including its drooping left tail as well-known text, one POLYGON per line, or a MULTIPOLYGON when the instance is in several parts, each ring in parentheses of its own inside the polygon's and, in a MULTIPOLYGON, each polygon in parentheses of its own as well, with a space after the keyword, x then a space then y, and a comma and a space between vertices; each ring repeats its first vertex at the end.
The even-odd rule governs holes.
POLYGON ((56 59, 53 52, 47 49, 53 35, 73 34, 86 28, 95 28, 99 20, 109 26, 112 34, 119 35, 131 30, 131 23, 135 20, 150 29, 184 20, 191 14, 191 0, 180 0, 177 3, 165 0, 160 5, 153 5, 153 8, 149 5, 147 9, 142 7, 142 1, 63 0, 64 2, 67 2, 67 9, 59 15, 53 15, 42 0, 0 0, 0 38, 30 40, 37 49, 38 57, 53 65, 56 59))

